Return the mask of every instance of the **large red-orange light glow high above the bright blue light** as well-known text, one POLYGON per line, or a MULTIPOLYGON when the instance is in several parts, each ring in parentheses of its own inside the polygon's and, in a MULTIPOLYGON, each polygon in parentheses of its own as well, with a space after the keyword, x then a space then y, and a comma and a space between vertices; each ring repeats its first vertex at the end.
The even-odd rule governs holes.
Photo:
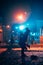
POLYGON ((27 19, 27 12, 25 11, 18 11, 16 13, 13 13, 13 21, 15 23, 24 23, 27 19))

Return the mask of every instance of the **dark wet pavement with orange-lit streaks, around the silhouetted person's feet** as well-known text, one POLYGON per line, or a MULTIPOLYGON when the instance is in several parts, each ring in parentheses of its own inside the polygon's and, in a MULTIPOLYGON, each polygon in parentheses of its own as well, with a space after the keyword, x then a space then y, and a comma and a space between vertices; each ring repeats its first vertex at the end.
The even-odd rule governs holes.
MULTIPOLYGON (((43 65, 43 51, 27 50, 24 53, 26 65, 43 65)), ((21 49, 0 48, 0 65, 22 65, 21 49)))

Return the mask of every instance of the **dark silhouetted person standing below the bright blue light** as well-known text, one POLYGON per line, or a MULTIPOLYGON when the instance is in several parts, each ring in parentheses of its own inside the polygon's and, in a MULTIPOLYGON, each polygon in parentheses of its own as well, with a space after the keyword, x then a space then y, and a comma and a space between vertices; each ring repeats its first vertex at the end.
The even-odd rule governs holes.
MULTIPOLYGON (((21 47, 22 65, 25 65, 25 54, 24 54, 24 50, 27 49, 26 48, 26 41, 27 41, 29 33, 30 33, 30 30, 28 28, 26 28, 26 32, 24 34, 21 32, 21 34, 20 34, 19 45, 21 47)), ((29 46, 29 45, 27 45, 27 46, 29 46)), ((29 46, 29 48, 30 48, 30 46, 29 46)))

